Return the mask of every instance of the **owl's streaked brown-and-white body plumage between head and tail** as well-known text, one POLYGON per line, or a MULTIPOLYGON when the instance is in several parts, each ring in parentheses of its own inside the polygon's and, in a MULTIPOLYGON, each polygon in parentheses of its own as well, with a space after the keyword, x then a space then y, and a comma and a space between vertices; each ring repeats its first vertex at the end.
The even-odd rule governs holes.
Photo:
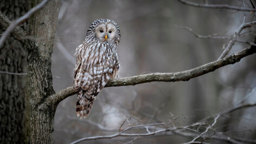
MULTIPOLYGON (((87 98, 95 97, 118 73, 119 64, 116 51, 104 43, 91 44, 77 50, 74 88, 86 91, 87 98), (118 65, 118 66, 117 66, 118 65), (115 73, 113 73, 115 72, 115 73)), ((114 49, 115 50, 115 49, 114 49)))

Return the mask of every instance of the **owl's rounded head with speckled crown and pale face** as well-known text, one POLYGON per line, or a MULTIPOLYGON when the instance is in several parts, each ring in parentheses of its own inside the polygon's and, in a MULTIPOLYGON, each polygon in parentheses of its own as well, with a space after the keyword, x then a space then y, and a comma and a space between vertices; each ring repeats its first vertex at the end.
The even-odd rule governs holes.
POLYGON ((121 37, 117 23, 110 19, 95 20, 87 30, 87 36, 91 35, 101 43, 118 44, 121 37))

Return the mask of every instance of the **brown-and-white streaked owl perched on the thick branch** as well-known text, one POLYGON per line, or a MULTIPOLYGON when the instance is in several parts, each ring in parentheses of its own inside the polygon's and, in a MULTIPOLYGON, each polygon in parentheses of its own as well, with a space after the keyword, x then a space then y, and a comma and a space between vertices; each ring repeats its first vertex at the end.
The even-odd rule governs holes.
POLYGON ((110 19, 97 19, 89 29, 84 42, 75 50, 74 89, 78 91, 76 115, 86 118, 93 101, 110 78, 118 77, 117 45, 120 30, 110 19))

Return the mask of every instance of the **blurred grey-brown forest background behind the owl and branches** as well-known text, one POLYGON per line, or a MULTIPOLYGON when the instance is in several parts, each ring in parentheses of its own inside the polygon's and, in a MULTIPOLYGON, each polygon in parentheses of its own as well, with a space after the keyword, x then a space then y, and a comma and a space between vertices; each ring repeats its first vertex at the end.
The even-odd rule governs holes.
MULTIPOLYGON (((209 2, 242 6, 239 0, 209 2)), ((245 2, 252 8, 249 1, 245 2)), ((255 14, 246 12, 246 15, 247 22, 251 22, 255 14)), ((196 8, 178 1, 62 0, 52 58, 54 90, 58 92, 73 85, 75 48, 82 43, 88 26, 95 19, 113 19, 119 25, 119 76, 130 77, 184 71, 217 60, 229 39, 200 39, 178 26, 188 26, 199 35, 218 33, 229 37, 239 28, 243 17, 242 11, 196 8)), ((239 39, 253 42, 255 26, 248 30, 243 31, 239 39)), ((247 46, 236 43, 229 54, 247 46)), ((82 120, 76 117, 77 98, 73 95, 57 107, 54 139, 56 143, 70 143, 88 136, 114 134, 116 131, 112 130, 119 129, 125 120, 123 127, 169 122, 180 116, 176 125, 191 124, 228 108, 256 102, 255 76, 256 59, 249 56, 239 63, 185 82, 104 88, 91 114, 82 120)), ((223 126, 220 129, 225 132, 234 131, 233 135, 255 139, 255 113, 255 107, 232 113, 220 118, 217 126, 223 126)), ((125 143, 132 139, 120 137, 84 143, 125 143)), ((190 140, 170 135, 133 142, 182 143, 190 140)))

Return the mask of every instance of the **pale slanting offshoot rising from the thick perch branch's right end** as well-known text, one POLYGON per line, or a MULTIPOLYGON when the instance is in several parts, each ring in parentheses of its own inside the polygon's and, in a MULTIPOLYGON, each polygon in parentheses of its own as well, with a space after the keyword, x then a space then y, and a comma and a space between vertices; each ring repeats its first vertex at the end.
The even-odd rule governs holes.
MULTIPOLYGON (((246 17, 244 17, 245 20, 246 17)), ((221 53, 221 56, 219 57, 218 60, 225 58, 225 56, 228 54, 228 52, 231 50, 232 46, 235 44, 236 39, 238 39, 238 37, 240 36, 240 33, 242 32, 243 29, 251 27, 253 24, 256 24, 256 21, 253 22, 249 22, 249 23, 243 23, 239 26, 238 31, 236 31, 234 33, 234 36, 231 38, 231 40, 229 41, 226 49, 221 53)))

